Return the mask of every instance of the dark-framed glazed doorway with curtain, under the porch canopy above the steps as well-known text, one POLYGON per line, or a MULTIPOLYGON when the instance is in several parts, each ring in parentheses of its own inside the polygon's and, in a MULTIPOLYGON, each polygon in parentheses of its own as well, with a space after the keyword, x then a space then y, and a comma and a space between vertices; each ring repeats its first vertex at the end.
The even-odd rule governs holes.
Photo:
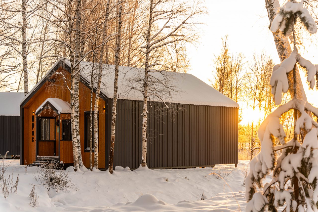
POLYGON ((56 156, 56 124, 54 117, 37 121, 38 156, 56 156))

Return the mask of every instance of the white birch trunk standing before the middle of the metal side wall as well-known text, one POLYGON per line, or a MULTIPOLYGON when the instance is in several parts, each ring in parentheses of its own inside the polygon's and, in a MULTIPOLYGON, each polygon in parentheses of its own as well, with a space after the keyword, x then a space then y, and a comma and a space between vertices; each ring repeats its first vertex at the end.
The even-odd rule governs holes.
POLYGON ((146 37, 146 53, 145 53, 145 75, 143 81, 143 105, 142 105, 142 158, 141 165, 147 166, 147 104, 148 104, 148 71, 149 71, 149 51, 150 51, 150 32, 152 25, 153 0, 150 0, 149 9, 149 25, 146 37))

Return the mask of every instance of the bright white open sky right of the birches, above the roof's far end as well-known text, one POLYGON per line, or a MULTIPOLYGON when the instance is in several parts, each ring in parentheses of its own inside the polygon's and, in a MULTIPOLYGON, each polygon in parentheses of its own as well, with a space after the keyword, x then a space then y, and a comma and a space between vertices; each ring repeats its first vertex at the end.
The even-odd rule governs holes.
MULTIPOLYGON (((282 4, 283 2, 281 2, 282 4)), ((191 47, 190 58, 192 70, 188 73, 197 76, 202 81, 211 84, 214 69, 213 58, 221 51, 221 38, 228 34, 230 53, 242 52, 245 55, 245 62, 252 58, 254 51, 260 53, 263 49, 270 55, 275 64, 280 63, 273 34, 269 31, 269 20, 264 0, 245 0, 244 3, 238 0, 205 0, 208 13, 200 18, 206 25, 201 26, 201 38, 197 47, 191 47), (192 49, 193 48, 193 49, 192 49)), ((304 39, 306 51, 300 53, 313 64, 318 64, 317 46, 312 40, 317 36, 304 39), (316 55, 316 57, 315 57, 316 55)), ((301 73, 301 75, 304 75, 301 73)), ((317 91, 308 90, 304 84, 308 102, 318 106, 317 91)), ((244 108, 244 106, 243 106, 244 108)), ((246 113, 243 114, 252 114, 246 113)), ((255 114, 253 115, 255 117, 255 114)), ((249 122, 250 117, 243 117, 243 124, 249 122)))

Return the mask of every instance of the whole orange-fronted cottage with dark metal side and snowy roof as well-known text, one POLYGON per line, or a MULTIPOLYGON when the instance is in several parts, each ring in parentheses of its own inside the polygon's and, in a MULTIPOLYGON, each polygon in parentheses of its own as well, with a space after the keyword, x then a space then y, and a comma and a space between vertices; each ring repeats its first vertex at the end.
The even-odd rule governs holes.
MULTIPOLYGON (((83 163, 89 167, 88 114, 92 63, 81 62, 79 132, 83 163)), ((114 66, 104 65, 98 106, 99 167, 107 168, 114 66)), ((131 77, 142 69, 120 67, 114 166, 141 163, 142 95, 131 89, 131 77)), ((147 165, 149 168, 214 166, 238 163, 238 104, 191 74, 169 72, 179 92, 163 102, 149 102, 147 165)), ((20 102, 20 164, 51 157, 73 163, 68 61, 59 60, 20 102), (62 73, 62 74, 57 74, 62 73), (66 80, 64 80, 63 76, 66 80)), ((95 96, 93 97, 93 99, 95 96)), ((96 115, 96 114, 94 114, 96 115)))

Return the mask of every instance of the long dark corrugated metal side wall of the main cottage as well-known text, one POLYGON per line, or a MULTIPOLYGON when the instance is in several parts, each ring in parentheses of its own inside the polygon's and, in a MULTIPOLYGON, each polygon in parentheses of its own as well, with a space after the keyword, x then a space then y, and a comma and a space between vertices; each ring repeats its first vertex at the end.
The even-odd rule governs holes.
MULTIPOLYGON (((110 105, 111 101, 108 116, 110 105)), ((176 112, 169 112, 162 102, 149 102, 149 168, 238 163, 238 108, 186 104, 171 108, 176 112)), ((141 113, 141 101, 118 100, 114 166, 140 165, 141 113)), ((109 143, 110 126, 107 129, 109 143)))

